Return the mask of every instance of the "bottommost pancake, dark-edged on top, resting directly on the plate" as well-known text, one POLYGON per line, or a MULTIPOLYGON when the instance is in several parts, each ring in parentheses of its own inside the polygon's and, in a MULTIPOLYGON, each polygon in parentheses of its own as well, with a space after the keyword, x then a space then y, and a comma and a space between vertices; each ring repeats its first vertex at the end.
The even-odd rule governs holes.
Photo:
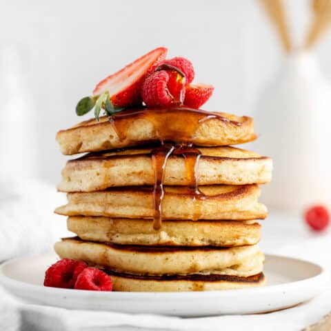
POLYGON ((126 292, 185 292, 235 290, 262 286, 265 277, 262 272, 250 277, 224 275, 200 275, 173 277, 137 277, 130 274, 110 273, 113 290, 126 292))

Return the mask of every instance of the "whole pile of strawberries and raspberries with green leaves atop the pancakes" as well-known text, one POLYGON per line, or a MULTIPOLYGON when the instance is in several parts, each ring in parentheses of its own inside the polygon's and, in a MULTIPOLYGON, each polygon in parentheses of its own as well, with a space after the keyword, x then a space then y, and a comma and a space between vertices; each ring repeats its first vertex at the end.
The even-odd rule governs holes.
POLYGON ((128 107, 189 106, 200 108, 214 88, 204 84, 190 85, 194 79, 192 62, 184 57, 165 60, 167 48, 160 47, 143 55, 128 66, 103 79, 92 97, 85 97, 76 107, 81 116, 94 108, 111 116, 128 107), (186 90, 188 92, 186 93, 186 90))

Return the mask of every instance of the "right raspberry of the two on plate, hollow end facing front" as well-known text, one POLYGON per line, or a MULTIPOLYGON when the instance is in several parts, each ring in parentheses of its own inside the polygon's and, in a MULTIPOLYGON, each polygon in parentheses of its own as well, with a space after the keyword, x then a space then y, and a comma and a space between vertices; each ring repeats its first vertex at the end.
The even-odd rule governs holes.
POLYGON ((112 280, 106 272, 96 268, 86 268, 77 277, 74 288, 76 290, 111 291, 112 280))

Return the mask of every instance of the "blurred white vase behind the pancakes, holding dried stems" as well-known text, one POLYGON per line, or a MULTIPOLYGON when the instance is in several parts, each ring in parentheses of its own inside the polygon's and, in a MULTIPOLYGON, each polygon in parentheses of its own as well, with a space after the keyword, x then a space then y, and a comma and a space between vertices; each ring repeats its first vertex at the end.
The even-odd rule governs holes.
POLYGON ((272 183, 263 188, 270 207, 302 210, 331 203, 331 84, 313 54, 284 59, 261 92, 254 113, 254 148, 272 157, 272 183))

